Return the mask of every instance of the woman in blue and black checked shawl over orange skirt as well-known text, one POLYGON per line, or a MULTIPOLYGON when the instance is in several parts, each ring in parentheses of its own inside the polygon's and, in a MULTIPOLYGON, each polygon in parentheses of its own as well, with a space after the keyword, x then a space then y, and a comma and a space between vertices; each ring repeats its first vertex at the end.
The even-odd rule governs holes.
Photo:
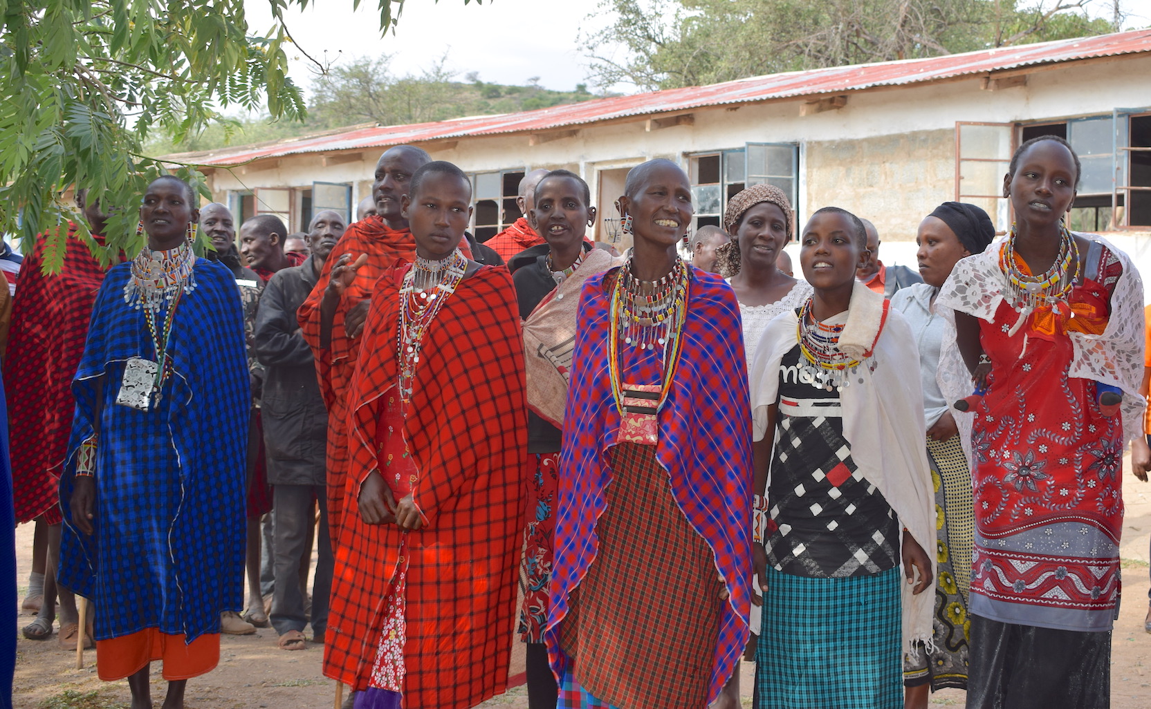
POLYGON ((175 177, 148 185, 147 244, 96 298, 60 481, 60 583, 93 602, 97 671, 132 706, 160 660, 182 707, 243 607, 244 325, 231 272, 191 251, 195 203, 175 177))

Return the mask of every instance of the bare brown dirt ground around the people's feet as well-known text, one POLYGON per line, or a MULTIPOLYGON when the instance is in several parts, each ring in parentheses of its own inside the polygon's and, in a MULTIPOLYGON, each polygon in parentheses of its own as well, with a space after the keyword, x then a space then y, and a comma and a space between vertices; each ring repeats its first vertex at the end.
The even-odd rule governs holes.
MULTIPOLYGON (((1123 485, 1127 515, 1123 523, 1123 596, 1112 642, 1111 700, 1114 709, 1145 709, 1151 704, 1151 634, 1143 630, 1146 614, 1149 540, 1151 540, 1151 484, 1135 480, 1129 473, 1123 485)), ((23 599, 31 565, 32 526, 16 530, 17 579, 23 599)), ((31 618, 21 618, 21 626, 31 618)), ((275 632, 260 630, 254 635, 224 635, 220 665, 188 683, 188 709, 266 709, 333 707, 335 684, 320 672, 322 648, 306 650, 276 648, 275 632)), ((517 649, 520 649, 517 644, 517 649)), ((102 683, 96 676, 96 654, 85 653, 83 669, 76 669, 75 653, 66 653, 53 637, 47 641, 20 638, 16 680, 13 694, 16 709, 121 709, 129 706, 128 684, 102 683)), ((521 665, 520 657, 513 663, 521 665)), ((744 706, 750 706, 752 663, 742 663, 744 706)), ((153 665, 152 696, 162 701, 165 681, 153 665)), ((961 707, 963 692, 947 689, 931 698, 932 707, 961 707)), ((481 704, 486 709, 526 709, 524 687, 510 689, 481 704)))

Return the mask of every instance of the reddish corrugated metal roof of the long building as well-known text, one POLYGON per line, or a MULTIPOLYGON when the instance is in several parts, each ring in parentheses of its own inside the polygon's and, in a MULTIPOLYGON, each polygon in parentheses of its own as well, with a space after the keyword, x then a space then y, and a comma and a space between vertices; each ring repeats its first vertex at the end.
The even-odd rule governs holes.
POLYGON ((669 88, 627 97, 594 99, 580 103, 496 116, 471 116, 435 123, 358 128, 335 134, 329 132, 323 136, 294 138, 275 144, 185 153, 180 157, 185 162, 226 167, 298 153, 379 148, 466 136, 539 132, 630 116, 843 93, 877 86, 930 83, 1036 64, 1143 52, 1151 52, 1151 30, 1134 30, 929 59, 790 71, 710 86, 669 88))

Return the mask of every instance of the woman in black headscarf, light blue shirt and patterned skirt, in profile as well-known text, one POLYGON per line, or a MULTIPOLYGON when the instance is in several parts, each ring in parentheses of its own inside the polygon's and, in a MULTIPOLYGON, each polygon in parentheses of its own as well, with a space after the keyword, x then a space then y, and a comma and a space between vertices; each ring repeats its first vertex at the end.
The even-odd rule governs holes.
POLYGON ((955 344, 955 316, 936 307, 939 288, 955 263, 983 249, 996 238, 988 213, 975 205, 944 202, 920 222, 923 283, 901 288, 891 299, 912 327, 920 353, 927 453, 936 503, 936 587, 932 615, 933 649, 916 645, 904 660, 906 709, 927 709, 930 692, 967 689, 967 591, 971 579, 971 416, 952 411, 967 396, 971 379, 955 344))

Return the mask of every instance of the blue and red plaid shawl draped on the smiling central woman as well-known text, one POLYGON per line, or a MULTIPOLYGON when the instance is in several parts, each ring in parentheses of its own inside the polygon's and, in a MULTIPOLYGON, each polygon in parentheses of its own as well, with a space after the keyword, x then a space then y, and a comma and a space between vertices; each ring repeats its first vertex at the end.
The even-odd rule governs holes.
MULTIPOLYGON (((596 521, 611 481, 608 448, 616 444, 619 414, 608 373, 607 278, 589 278, 580 296, 571 390, 564 413, 559 461, 555 565, 546 639, 557 675, 570 658, 559 642, 569 596, 595 561, 596 521)), ((708 699, 714 700, 747 642, 750 608, 752 429, 747 363, 735 294, 718 276, 693 268, 684 346, 671 393, 660 411, 656 455, 668 472, 677 509, 707 541, 731 598, 723 606, 708 699)), ((627 349, 624 378, 660 382, 662 364, 627 349)), ((595 652, 594 648, 589 652, 595 652)), ((665 652, 672 652, 665 648, 665 652)))

